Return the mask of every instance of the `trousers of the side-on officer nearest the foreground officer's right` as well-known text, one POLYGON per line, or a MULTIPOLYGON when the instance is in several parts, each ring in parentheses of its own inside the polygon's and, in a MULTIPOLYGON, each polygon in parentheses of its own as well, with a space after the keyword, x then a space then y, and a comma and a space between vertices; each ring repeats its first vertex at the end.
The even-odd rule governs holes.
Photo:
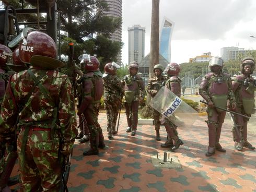
POLYGON ((99 144, 104 142, 102 129, 98 123, 99 107, 100 103, 89 104, 84 111, 84 116, 89 129, 91 148, 97 148, 99 144))

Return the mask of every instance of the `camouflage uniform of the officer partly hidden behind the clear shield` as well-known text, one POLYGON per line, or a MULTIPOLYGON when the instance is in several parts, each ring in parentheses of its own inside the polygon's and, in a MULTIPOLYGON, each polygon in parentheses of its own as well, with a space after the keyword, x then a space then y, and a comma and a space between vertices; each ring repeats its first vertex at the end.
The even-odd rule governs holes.
MULTIPOLYGON (((153 78, 150 78, 148 80, 148 85, 147 85, 147 93, 151 96, 154 97, 156 93, 159 91, 159 89, 162 86, 162 83, 165 81, 164 77, 161 75, 159 78, 154 76, 153 78)), ((154 117, 154 124, 155 124, 155 130, 160 129, 160 117, 161 114, 153 109, 153 117, 154 117)))

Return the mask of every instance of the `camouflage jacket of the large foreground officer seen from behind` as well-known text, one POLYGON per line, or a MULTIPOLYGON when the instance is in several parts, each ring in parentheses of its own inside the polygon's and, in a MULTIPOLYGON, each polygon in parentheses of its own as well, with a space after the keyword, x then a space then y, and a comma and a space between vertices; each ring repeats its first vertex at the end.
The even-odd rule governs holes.
POLYGON ((27 103, 24 103, 25 96, 34 85, 28 70, 10 77, 1 107, 0 137, 15 131, 19 115, 18 128, 31 122, 40 128, 54 127, 62 135, 64 145, 72 146, 77 135, 77 124, 71 82, 66 75, 56 70, 42 70, 32 66, 30 69, 36 77, 44 75, 27 103), (22 105, 25 106, 18 113, 22 105), (55 125, 52 125, 54 122, 55 125))

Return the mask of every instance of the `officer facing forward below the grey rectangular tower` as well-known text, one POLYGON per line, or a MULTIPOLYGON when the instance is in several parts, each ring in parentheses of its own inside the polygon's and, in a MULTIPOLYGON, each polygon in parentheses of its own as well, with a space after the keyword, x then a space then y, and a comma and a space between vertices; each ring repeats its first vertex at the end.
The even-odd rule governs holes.
POLYGON ((137 75, 138 63, 132 62, 129 66, 129 75, 122 79, 124 86, 124 106, 128 127, 126 133, 131 133, 131 136, 136 135, 138 124, 138 104, 145 97, 145 88, 143 79, 137 75))

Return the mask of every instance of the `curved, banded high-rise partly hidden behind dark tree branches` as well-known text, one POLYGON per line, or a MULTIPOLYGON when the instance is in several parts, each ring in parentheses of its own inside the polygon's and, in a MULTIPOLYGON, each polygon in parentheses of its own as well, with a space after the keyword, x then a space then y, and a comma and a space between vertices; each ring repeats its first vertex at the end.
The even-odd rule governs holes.
MULTIPOLYGON (((108 4, 108 10, 104 10, 103 13, 110 17, 122 18, 122 0, 105 0, 108 4)), ((122 42, 122 26, 116 29, 111 35, 110 40, 122 42)), ((118 55, 118 62, 122 60, 122 53, 118 55)))

